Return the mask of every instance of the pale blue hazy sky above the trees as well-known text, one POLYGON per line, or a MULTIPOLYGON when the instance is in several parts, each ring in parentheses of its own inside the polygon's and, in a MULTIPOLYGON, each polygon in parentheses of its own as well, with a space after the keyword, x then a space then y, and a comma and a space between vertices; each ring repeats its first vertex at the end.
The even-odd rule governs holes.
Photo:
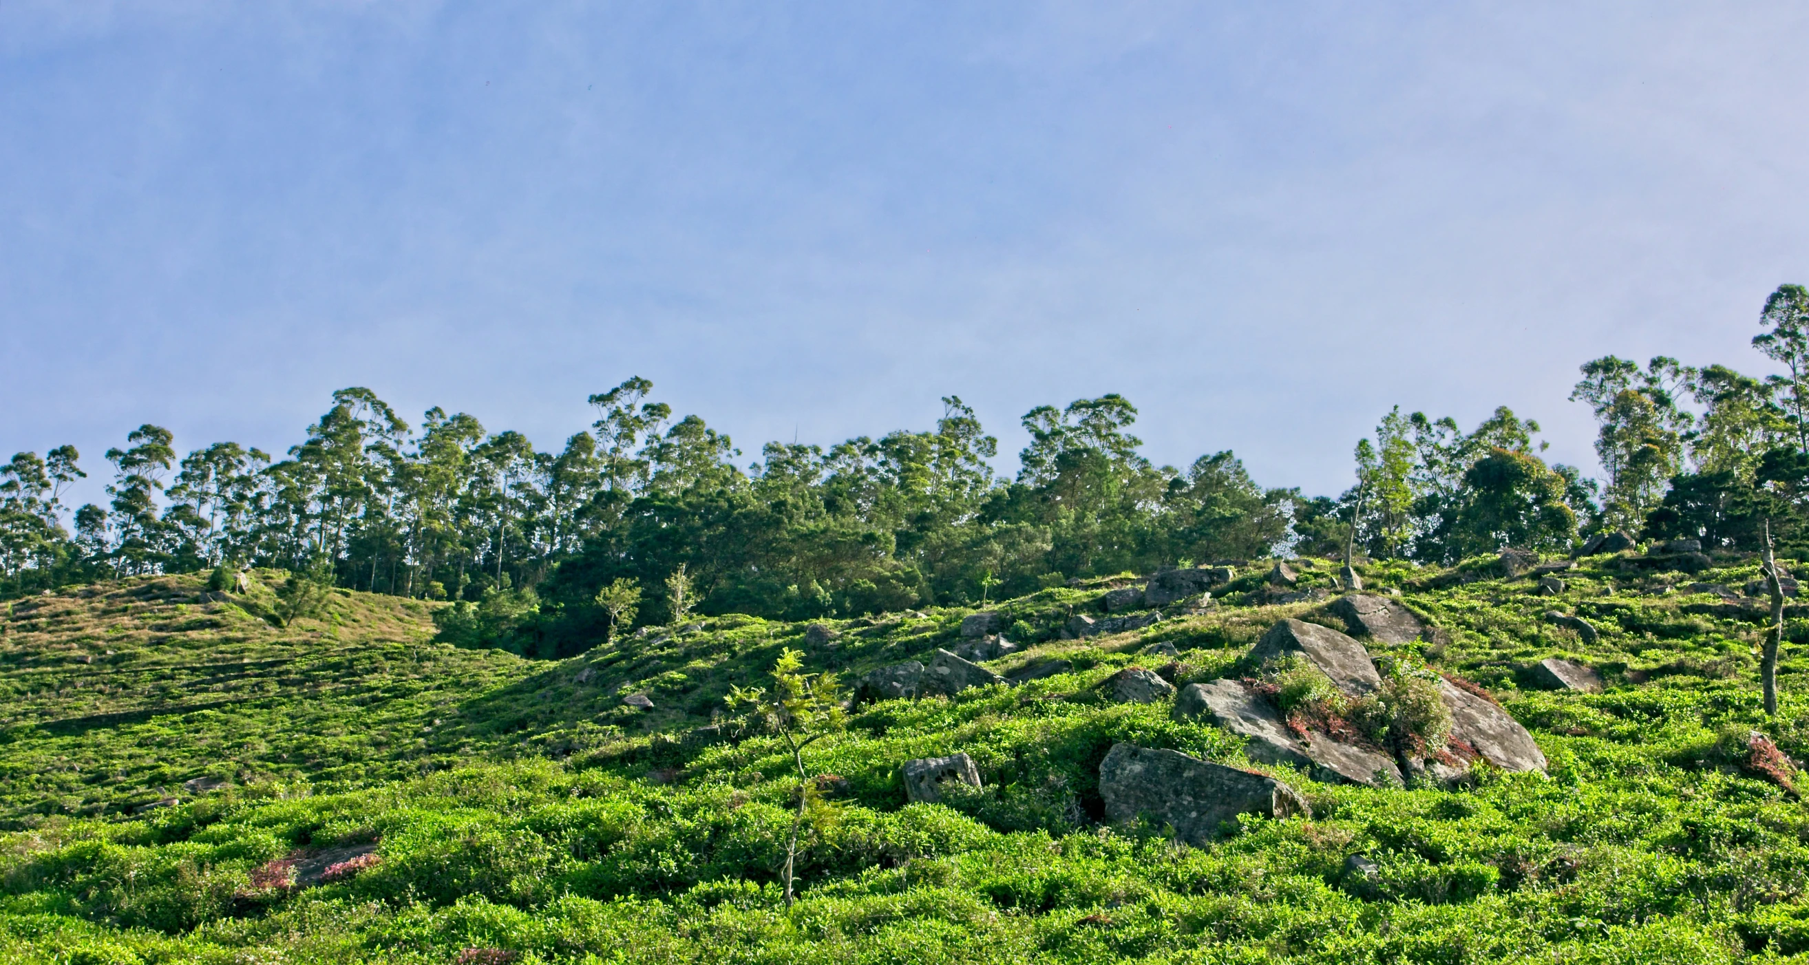
POLYGON ((0 456, 280 451, 342 386, 543 449, 644 375, 731 433, 1000 436, 1337 492, 1389 406, 1767 371, 1802 4, 0 4, 0 456))

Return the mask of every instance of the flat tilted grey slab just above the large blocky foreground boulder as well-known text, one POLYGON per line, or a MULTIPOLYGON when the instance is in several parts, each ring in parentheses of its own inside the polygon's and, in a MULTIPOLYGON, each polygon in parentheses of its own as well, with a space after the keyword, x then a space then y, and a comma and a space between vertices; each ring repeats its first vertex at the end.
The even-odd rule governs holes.
POLYGON ((1310 731, 1302 740, 1281 712, 1243 681, 1189 684, 1174 701, 1176 721, 1210 721, 1245 737, 1245 755, 1259 764, 1304 768, 1315 780, 1398 788, 1400 768, 1386 753, 1310 731))

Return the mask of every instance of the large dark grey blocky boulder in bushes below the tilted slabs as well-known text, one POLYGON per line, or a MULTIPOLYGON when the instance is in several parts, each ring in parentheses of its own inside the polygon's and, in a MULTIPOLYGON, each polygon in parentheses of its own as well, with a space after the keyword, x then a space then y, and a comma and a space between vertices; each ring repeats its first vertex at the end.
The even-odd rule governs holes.
POLYGON ((1100 762, 1100 797, 1113 822, 1149 815, 1194 846, 1210 842, 1237 815, 1313 815, 1293 788, 1272 777, 1136 744, 1113 744, 1100 762))

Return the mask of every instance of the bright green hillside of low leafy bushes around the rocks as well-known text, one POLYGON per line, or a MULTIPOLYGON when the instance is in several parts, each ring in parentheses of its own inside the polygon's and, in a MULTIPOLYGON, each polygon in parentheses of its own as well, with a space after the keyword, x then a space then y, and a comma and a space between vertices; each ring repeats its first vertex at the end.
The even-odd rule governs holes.
MULTIPOLYGON (((1447 630, 1449 643, 1407 650, 1492 688, 1534 730, 1549 779, 1444 793, 1290 775, 1315 820, 1252 820, 1207 849, 1085 824, 1113 740, 1241 760, 1217 730, 1113 706, 1093 684, 1154 666, 1136 654, 1156 641, 1183 652, 1189 677, 1210 679, 1281 616, 1315 619, 1310 603, 1243 605, 1257 588, 1248 578, 1234 585, 1248 594, 1216 612, 997 663, 1060 654, 1073 674, 857 713, 812 757, 847 789, 803 858, 792 912, 772 889, 787 759, 769 737, 682 735, 783 646, 803 648, 801 625, 720 617, 546 664, 425 643, 425 610, 362 594, 289 632, 195 603, 199 585, 183 579, 34 599, 14 607, 0 650, 4 807, 29 827, 0 844, 0 952, 1724 961, 1809 949, 1809 820, 1793 795, 1746 773, 1726 739, 1764 726, 1793 755, 1809 751, 1809 701, 1796 697, 1809 675, 1785 661, 1784 713, 1764 722, 1755 626, 1679 590, 1740 585, 1751 563, 1699 578, 1586 563, 1558 599, 1527 579, 1366 574, 1406 587, 1447 630), (1554 607, 1590 617, 1596 645, 1538 619, 1554 607), (1552 654, 1605 668, 1610 692, 1521 692, 1523 668, 1552 654), (635 692, 657 710, 624 708, 635 692), (183 712, 197 704, 223 706, 183 712), (904 806, 897 764, 957 750, 988 789, 904 806), (235 788, 119 817, 203 773, 235 788), (67 817, 83 811, 99 817, 67 817), (248 887, 266 860, 369 840, 382 864, 349 882, 248 887), (1342 887, 1353 853, 1378 860, 1378 894, 1342 887)), ((1044 590, 1000 608, 1026 625, 1018 635, 1047 635, 1098 592, 1044 590)), ((923 655, 955 637, 959 617, 838 623, 836 646, 810 663, 857 674, 923 655)))

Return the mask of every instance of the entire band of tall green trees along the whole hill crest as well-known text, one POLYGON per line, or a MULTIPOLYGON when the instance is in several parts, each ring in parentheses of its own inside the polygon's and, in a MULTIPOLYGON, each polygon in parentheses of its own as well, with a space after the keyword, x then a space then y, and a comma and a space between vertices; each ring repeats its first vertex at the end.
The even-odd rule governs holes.
POLYGON ((1259 487, 1232 453, 1154 465, 1118 395, 1026 413, 1029 445, 1000 478, 997 440, 955 397, 933 429, 829 449, 774 442, 742 465, 725 435, 673 418, 644 378, 590 397, 595 422, 557 453, 465 413, 429 409, 409 425, 369 389, 342 389, 282 460, 232 442, 177 458, 170 431, 141 425, 105 453, 109 503, 74 512, 72 447, 13 456, 0 467, 0 594, 275 567, 456 599, 449 637, 554 657, 604 639, 604 587, 644 594, 642 623, 669 619, 680 567, 696 612, 809 619, 1335 554, 1351 520, 1369 556, 1424 563, 1565 549, 1599 529, 1751 549, 1769 523, 1793 545, 1809 541, 1809 293, 1780 288, 1762 324, 1755 344, 1791 375, 1585 364, 1572 400, 1601 422, 1601 482, 1547 465, 1538 425, 1505 407, 1469 433, 1397 409, 1357 445, 1357 485, 1337 498, 1259 487))

